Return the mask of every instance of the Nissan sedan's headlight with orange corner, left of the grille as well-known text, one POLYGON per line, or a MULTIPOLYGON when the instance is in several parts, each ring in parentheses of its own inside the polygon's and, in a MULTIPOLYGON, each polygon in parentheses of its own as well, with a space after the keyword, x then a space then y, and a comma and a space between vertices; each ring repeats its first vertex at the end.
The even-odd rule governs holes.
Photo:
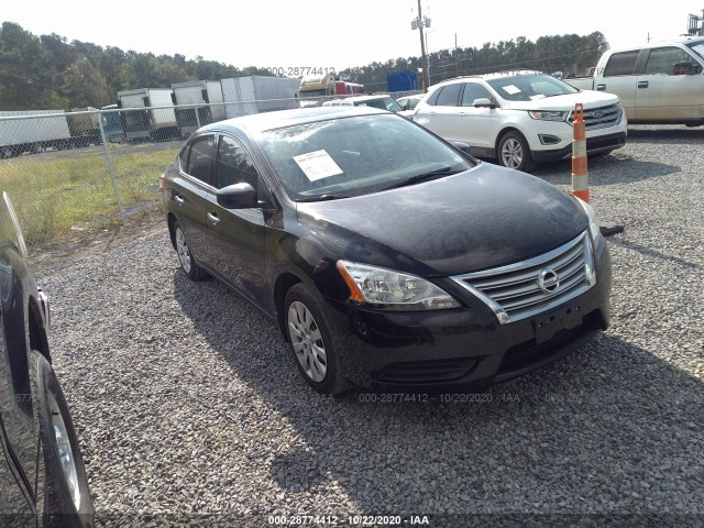
POLYGON ((350 287, 350 298, 359 302, 398 310, 461 306, 448 293, 415 275, 349 261, 338 261, 338 270, 350 287))

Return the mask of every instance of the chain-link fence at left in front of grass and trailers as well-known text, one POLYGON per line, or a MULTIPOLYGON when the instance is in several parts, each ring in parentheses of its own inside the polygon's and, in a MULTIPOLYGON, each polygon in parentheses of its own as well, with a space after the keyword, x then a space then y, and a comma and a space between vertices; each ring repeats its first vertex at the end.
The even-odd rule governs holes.
POLYGON ((0 190, 30 246, 120 223, 161 207, 158 176, 200 127, 299 102, 0 111, 0 190))

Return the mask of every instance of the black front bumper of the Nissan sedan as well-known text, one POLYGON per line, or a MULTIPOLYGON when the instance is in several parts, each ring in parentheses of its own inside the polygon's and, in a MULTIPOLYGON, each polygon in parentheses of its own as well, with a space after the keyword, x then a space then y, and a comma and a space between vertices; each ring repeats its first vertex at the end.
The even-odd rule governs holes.
POLYGON ((498 323, 480 301, 454 310, 364 310, 327 299, 338 361, 358 388, 382 392, 476 392, 541 369, 609 323, 612 270, 604 246, 597 283, 527 319, 498 323))

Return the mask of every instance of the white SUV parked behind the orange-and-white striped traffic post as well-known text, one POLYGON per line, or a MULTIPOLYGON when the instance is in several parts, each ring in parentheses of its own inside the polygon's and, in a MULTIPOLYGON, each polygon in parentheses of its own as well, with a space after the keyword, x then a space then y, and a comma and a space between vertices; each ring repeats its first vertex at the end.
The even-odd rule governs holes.
POLYGON ((572 156, 575 103, 584 107, 588 155, 626 144, 617 96, 576 88, 540 72, 461 77, 430 87, 413 120, 470 145, 476 157, 531 170, 536 162, 572 156))

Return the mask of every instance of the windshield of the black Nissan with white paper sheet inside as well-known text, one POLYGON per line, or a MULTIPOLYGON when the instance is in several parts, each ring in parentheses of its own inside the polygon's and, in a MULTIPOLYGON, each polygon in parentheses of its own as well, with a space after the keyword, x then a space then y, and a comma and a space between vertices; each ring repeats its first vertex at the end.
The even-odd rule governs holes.
POLYGON ((443 177, 474 166, 425 129, 391 114, 273 130, 258 144, 297 201, 365 195, 428 173, 443 177))

